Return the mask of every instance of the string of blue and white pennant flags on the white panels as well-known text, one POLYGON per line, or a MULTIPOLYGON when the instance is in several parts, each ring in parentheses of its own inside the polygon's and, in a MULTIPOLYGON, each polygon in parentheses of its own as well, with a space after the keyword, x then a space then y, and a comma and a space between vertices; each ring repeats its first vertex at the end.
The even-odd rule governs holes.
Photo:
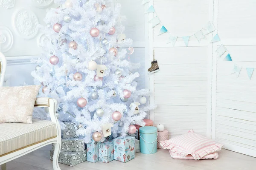
MULTIPOLYGON (((149 2, 149 0, 142 0, 142 5, 145 5, 149 2)), ((152 20, 149 21, 149 23, 152 23, 152 28, 156 27, 157 25, 161 24, 162 27, 160 28, 159 34, 158 35, 162 35, 165 33, 169 33, 167 28, 165 26, 163 26, 163 23, 161 22, 161 20, 159 19, 159 17, 157 17, 156 11, 154 9, 154 6, 151 5, 146 11, 145 13, 154 13, 154 17, 152 20)), ((200 43, 202 39, 206 39, 206 35, 212 33, 213 31, 215 31, 215 26, 213 25, 213 23, 211 23, 210 21, 200 30, 196 31, 194 34, 192 35, 188 35, 188 36, 174 36, 172 34, 167 34, 168 38, 167 38, 167 42, 166 43, 171 43, 173 46, 175 46, 175 43, 177 42, 177 39, 180 38, 183 40, 184 44, 186 45, 186 47, 189 45, 189 40, 192 36, 194 36, 196 38, 196 40, 200 43)), ((213 36, 212 40, 209 43, 214 43, 214 42, 221 42, 221 38, 218 34, 215 34, 215 36, 213 36)), ((224 54, 227 54, 224 57, 224 61, 226 62, 232 62, 232 57, 229 53, 229 51, 227 50, 227 48, 222 44, 218 45, 217 50, 215 51, 217 53, 218 57, 222 57, 224 54)), ((239 77, 239 74, 241 72, 242 67, 240 67, 237 64, 234 64, 233 66, 233 71, 231 72, 231 74, 236 74, 237 77, 239 77)), ((253 75, 253 71, 254 68, 246 68, 247 71, 247 75, 249 77, 249 79, 252 78, 253 75)))

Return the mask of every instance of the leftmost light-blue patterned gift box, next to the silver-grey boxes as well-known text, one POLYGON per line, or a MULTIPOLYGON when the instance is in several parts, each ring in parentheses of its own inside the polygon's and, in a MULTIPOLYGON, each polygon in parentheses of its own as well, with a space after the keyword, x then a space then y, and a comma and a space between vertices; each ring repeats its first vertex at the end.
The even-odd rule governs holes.
POLYGON ((87 144, 87 161, 96 163, 99 161, 99 144, 100 142, 91 142, 87 144))

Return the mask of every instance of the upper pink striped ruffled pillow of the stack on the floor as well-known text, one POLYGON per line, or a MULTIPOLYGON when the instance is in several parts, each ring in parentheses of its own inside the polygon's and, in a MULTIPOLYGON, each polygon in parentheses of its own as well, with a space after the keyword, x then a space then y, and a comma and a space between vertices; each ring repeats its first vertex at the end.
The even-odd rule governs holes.
POLYGON ((211 139, 189 131, 181 136, 160 142, 163 149, 177 153, 180 156, 192 155, 194 159, 201 159, 211 153, 221 150, 223 144, 218 144, 211 139))

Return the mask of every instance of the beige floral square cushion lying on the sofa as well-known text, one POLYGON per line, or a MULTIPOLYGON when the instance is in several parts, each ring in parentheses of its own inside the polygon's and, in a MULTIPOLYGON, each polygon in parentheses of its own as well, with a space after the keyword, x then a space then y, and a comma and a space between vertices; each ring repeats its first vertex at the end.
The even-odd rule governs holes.
POLYGON ((32 123, 33 108, 40 87, 0 87, 0 123, 32 123))

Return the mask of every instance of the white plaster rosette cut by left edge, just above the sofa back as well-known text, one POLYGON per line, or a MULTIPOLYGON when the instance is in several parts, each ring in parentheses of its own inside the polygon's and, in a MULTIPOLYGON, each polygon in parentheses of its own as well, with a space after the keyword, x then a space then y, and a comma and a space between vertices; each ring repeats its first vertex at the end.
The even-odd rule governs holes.
POLYGON ((12 48, 13 35, 9 28, 0 26, 0 51, 6 52, 12 48))

